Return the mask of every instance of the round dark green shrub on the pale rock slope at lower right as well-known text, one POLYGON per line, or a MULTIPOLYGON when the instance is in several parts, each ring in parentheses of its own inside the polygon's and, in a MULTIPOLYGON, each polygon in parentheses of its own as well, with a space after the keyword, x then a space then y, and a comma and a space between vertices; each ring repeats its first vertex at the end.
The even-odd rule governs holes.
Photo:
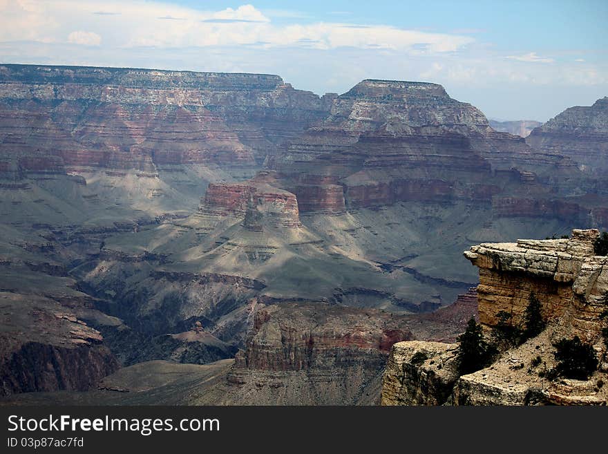
POLYGON ((558 365, 556 372, 566 378, 587 380, 598 368, 598 358, 593 347, 580 341, 578 336, 573 339, 560 339, 553 344, 555 359, 558 365))

